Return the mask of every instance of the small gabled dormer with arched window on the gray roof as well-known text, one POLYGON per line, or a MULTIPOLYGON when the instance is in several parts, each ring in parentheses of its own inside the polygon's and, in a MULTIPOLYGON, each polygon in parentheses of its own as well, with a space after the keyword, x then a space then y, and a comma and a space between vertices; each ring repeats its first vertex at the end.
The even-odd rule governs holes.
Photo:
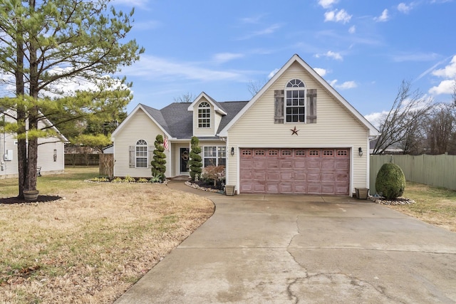
POLYGON ((227 112, 206 93, 202 92, 188 107, 193 112, 193 135, 197 137, 215 136, 220 120, 227 112))

